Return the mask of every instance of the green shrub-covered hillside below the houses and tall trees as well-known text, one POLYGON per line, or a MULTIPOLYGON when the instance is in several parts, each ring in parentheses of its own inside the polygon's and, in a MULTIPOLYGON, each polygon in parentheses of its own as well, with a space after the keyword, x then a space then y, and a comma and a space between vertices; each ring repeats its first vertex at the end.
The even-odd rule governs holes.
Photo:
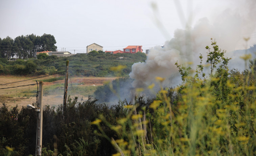
POLYGON ((69 60, 69 74, 78 76, 128 76, 132 65, 144 62, 144 53, 136 54, 77 54, 70 57, 48 56, 45 59, 29 59, 7 61, 0 59, 2 75, 41 75, 65 71, 69 60), (126 66, 121 72, 115 73, 110 67, 126 66))

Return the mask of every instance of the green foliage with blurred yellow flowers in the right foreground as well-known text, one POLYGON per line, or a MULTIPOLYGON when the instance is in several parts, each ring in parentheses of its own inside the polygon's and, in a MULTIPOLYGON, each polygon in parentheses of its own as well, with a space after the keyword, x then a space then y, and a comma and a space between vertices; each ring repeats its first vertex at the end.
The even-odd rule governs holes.
MULTIPOLYGON (((211 71, 217 68, 219 59, 223 62, 206 79, 202 55, 200 59, 197 66, 200 71, 195 76, 191 76, 189 68, 176 63, 184 78, 177 89, 161 89, 149 106, 141 100, 125 105, 126 116, 109 125, 118 139, 100 131, 99 135, 110 140, 117 155, 256 154, 255 79, 250 74, 229 72, 226 66, 229 59, 222 58, 222 53, 208 55, 211 71), (204 80, 199 78, 199 73, 204 80)), ((92 123, 99 129, 103 123, 107 124, 102 116, 92 123)))

